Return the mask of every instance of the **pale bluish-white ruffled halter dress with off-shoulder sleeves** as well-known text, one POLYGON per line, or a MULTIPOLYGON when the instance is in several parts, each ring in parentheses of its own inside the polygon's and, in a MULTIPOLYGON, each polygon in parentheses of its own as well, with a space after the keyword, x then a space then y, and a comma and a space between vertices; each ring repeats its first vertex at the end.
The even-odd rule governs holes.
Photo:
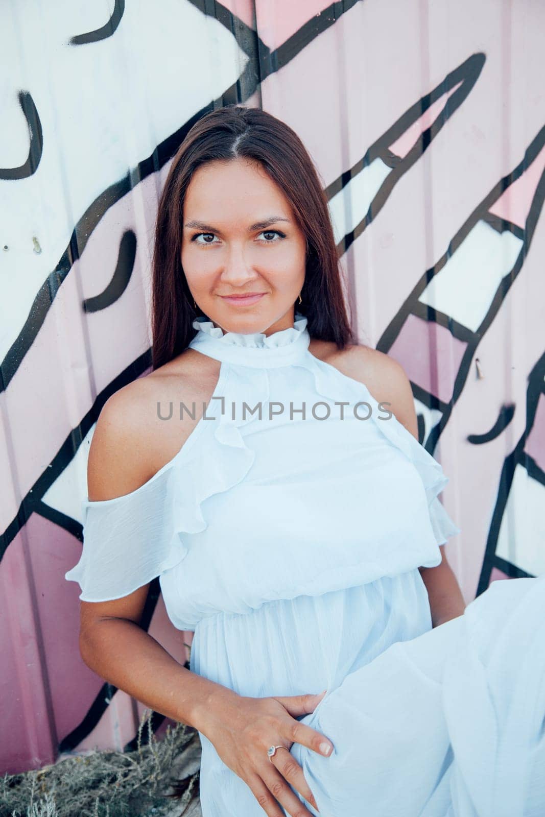
MULTIPOLYGON (((103 601, 159 576, 172 623, 194 630, 191 669, 239 694, 327 689, 303 721, 333 755, 292 748, 321 817, 543 817, 543 581, 494 583, 432 630, 418 567, 460 532, 440 464, 310 354, 302 315, 268 337, 194 328, 221 361, 206 413, 140 488, 83 502, 65 578, 103 601)), ((201 740, 203 817, 262 817, 201 740)))

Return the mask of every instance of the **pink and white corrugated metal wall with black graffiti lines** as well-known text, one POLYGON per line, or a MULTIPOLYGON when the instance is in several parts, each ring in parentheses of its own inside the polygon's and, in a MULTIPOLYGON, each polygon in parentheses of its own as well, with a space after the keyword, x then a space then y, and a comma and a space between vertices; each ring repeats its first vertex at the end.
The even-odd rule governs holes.
MULTIPOLYGON (((330 201, 361 342, 403 364, 467 601, 545 570, 545 5, 2 4, 0 770, 123 748, 141 704, 78 654, 90 439, 150 368, 158 191, 203 113, 262 105, 330 201)), ((176 658, 157 581, 145 626, 176 658)), ((155 725, 160 729, 162 718, 155 725)))

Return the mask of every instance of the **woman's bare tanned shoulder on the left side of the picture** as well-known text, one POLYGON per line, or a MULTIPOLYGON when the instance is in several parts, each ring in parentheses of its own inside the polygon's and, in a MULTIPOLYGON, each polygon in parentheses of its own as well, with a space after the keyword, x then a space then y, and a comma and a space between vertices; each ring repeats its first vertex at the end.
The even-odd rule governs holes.
POLYGON ((203 364, 203 355, 199 360, 194 355, 198 353, 186 350, 106 400, 87 462, 90 500, 131 493, 181 449, 217 382, 218 367, 203 364), (188 412, 180 413, 181 402, 195 405, 194 419, 188 412))

